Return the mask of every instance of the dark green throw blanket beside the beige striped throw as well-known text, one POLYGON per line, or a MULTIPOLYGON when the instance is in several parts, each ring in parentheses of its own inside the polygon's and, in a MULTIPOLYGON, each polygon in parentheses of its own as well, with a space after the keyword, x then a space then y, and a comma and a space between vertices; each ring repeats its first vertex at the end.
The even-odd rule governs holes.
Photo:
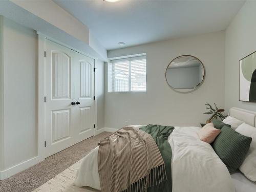
POLYGON ((140 130, 150 134, 155 140, 159 148, 159 151, 162 155, 162 158, 165 164, 166 176, 167 176, 166 181, 162 182, 160 185, 154 185, 148 188, 147 191, 172 192, 172 166, 171 166, 172 148, 170 147, 170 144, 168 143, 167 139, 169 135, 173 132, 174 127, 149 124, 149 125, 140 127, 140 130))

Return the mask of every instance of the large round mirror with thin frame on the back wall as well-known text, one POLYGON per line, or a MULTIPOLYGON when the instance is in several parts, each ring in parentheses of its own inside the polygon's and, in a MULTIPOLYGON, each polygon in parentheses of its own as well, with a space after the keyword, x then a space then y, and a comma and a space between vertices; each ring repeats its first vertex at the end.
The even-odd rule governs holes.
POLYGON ((169 63, 165 78, 171 88, 179 92, 189 92, 200 86, 204 73, 204 65, 198 58, 182 55, 169 63))

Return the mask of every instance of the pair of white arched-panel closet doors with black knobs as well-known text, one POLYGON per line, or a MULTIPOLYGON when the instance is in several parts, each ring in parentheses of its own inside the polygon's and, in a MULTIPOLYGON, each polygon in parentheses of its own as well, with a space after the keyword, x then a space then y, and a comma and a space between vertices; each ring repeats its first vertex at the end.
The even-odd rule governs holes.
POLYGON ((94 135, 94 59, 46 40, 46 157, 94 135))

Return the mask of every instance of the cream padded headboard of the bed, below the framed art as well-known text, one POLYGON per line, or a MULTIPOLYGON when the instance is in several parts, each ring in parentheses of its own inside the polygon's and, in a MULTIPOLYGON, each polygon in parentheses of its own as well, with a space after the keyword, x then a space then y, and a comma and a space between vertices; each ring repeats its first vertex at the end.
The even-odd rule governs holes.
POLYGON ((244 110, 240 108, 231 108, 228 112, 228 116, 244 121, 251 126, 256 125, 256 112, 254 111, 244 110))

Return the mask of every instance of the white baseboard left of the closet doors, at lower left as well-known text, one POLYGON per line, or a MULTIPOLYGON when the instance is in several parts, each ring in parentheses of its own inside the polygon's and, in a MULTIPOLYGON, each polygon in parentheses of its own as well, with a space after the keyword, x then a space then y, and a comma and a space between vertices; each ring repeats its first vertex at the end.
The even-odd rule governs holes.
POLYGON ((19 172, 22 172, 23 170, 41 162, 41 161, 44 161, 45 159, 42 159, 41 157, 39 156, 36 156, 36 157, 33 157, 27 161, 24 161, 22 163, 19 163, 17 165, 14 165, 10 168, 7 168, 5 170, 1 170, 0 171, 0 180, 4 180, 4 179, 7 179, 19 172))

